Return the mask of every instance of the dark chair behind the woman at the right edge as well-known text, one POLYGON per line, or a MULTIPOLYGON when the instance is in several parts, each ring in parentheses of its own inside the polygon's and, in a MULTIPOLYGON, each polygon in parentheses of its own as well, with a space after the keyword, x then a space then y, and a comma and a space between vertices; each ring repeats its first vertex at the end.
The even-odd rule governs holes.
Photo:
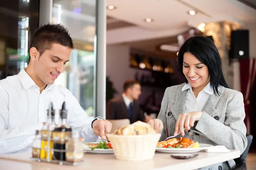
POLYGON ((246 138, 247 138, 247 146, 244 152, 241 154, 241 156, 239 158, 234 159, 234 161, 236 162, 236 167, 233 168, 232 170, 247 170, 246 157, 247 157, 250 145, 253 141, 253 136, 246 134, 246 138))

